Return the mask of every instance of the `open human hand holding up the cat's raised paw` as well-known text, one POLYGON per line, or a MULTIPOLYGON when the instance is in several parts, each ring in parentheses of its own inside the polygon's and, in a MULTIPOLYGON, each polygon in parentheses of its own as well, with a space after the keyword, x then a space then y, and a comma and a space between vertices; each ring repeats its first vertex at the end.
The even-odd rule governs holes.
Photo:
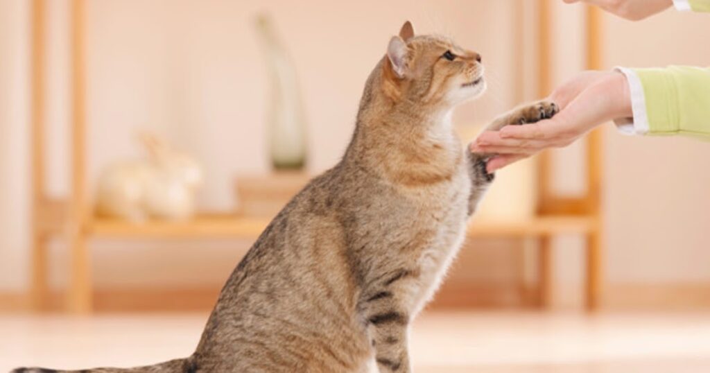
POLYGON ((484 131, 471 143, 471 151, 497 154, 488 161, 489 173, 545 148, 568 146, 606 121, 633 117, 626 76, 616 71, 582 72, 547 100, 560 108, 552 119, 484 131))

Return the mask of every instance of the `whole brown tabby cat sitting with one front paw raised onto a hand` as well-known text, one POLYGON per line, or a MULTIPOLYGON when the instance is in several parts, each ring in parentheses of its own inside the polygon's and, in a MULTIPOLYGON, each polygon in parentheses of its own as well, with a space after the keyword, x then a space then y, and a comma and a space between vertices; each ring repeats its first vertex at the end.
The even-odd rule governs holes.
MULTIPOLYGON (((408 330, 493 180, 451 112, 486 89, 481 55, 441 36, 391 38, 342 161, 266 227, 220 293, 195 353, 81 372, 411 372, 408 330)), ((536 102, 488 129, 552 117, 536 102)), ((21 368, 15 372, 57 372, 21 368)))

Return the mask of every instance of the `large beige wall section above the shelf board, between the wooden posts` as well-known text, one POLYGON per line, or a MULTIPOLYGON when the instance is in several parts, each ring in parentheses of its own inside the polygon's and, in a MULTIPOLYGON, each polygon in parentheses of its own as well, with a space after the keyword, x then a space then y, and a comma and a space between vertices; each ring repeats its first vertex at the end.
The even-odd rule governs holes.
POLYGON ((364 80, 404 19, 481 50, 493 89, 459 118, 483 121, 513 103, 513 2, 92 1, 91 169, 133 153, 133 131, 152 127, 205 160, 202 205, 229 208, 234 174, 268 168, 266 70, 253 30, 259 11, 273 14, 300 73, 314 171, 342 155, 364 80), (487 19, 466 22, 476 9, 487 19))

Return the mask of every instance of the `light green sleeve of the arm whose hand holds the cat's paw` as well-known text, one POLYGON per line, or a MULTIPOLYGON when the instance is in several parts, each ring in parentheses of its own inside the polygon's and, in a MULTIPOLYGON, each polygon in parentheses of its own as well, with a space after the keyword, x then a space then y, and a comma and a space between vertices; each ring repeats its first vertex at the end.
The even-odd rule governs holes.
POLYGON ((710 139, 710 68, 633 69, 643 85, 648 134, 710 139))

